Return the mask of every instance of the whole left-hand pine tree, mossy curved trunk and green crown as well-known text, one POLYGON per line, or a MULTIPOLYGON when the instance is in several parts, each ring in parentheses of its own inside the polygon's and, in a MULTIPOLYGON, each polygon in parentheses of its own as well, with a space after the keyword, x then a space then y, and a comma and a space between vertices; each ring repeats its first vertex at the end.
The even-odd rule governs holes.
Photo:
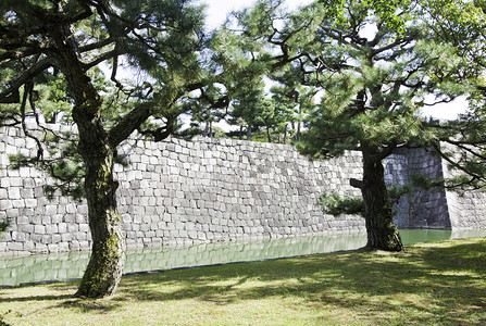
POLYGON ((4 0, 0 15, 1 121, 25 125, 29 108, 35 113, 42 106, 39 99, 52 106, 53 98, 66 97, 62 108, 45 108, 45 113, 62 110, 78 130, 75 149, 92 253, 77 296, 111 294, 125 259, 113 177, 116 147, 135 130, 155 140, 167 137, 177 126, 180 102, 207 80, 198 55, 202 10, 185 0, 4 0), (145 80, 120 79, 121 62, 145 80), (112 86, 105 89, 97 82, 101 63, 112 67, 112 86), (42 93, 59 78, 65 89, 57 91, 64 95, 42 93))

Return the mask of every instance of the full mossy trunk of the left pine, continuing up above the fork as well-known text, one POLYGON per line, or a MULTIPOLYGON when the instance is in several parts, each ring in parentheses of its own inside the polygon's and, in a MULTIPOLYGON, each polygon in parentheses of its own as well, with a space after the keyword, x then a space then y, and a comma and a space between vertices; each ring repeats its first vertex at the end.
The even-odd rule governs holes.
MULTIPOLYGON (((76 123, 78 152, 85 164, 85 196, 91 231, 91 258, 76 296, 101 298, 114 293, 121 280, 125 262, 125 237, 116 209, 117 181, 113 177, 113 156, 116 145, 104 130, 102 100, 76 52, 77 43, 68 27, 52 27, 51 36, 58 52, 55 65, 66 76, 70 93, 74 98, 73 120, 76 123)), ((117 130, 126 138, 132 128, 117 130), (127 129, 127 130, 125 130, 127 129)))

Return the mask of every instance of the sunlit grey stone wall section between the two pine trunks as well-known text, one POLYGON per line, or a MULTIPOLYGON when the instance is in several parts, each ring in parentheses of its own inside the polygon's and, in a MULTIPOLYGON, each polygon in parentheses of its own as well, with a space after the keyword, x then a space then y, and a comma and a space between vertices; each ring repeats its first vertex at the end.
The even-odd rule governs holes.
POLYGON ((309 162, 290 146, 227 139, 130 140, 117 166, 120 211, 129 246, 357 231, 359 216, 316 206, 324 190, 359 195, 360 155, 309 162))

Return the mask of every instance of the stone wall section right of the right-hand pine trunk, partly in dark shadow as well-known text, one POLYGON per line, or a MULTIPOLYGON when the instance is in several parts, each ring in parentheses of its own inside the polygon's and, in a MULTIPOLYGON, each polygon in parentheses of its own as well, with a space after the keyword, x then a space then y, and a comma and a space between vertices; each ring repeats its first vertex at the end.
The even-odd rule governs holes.
MULTIPOLYGON (((444 143, 441 146, 445 147, 443 150, 456 150, 444 143)), ((422 148, 398 150, 388 162, 385 165, 388 185, 404 185, 412 174, 423 174, 429 178, 448 178, 458 174, 438 154, 422 148)), ((403 196, 396 208, 394 222, 399 228, 486 228, 486 193, 481 191, 461 193, 416 188, 403 196)))

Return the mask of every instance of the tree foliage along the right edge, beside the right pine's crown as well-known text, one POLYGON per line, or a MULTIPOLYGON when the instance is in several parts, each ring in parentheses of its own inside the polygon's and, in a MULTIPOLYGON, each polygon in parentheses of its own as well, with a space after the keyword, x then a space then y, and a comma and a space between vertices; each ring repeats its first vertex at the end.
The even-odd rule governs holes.
MULTIPOLYGON (((456 176, 443 185, 449 189, 485 189, 485 54, 486 3, 479 1, 423 1, 418 12, 426 17, 434 37, 453 47, 465 61, 456 75, 457 84, 470 84, 469 111, 457 121, 435 124, 437 138, 443 141, 437 152, 448 162, 456 176)), ((424 183, 434 186, 437 181, 424 183)))

